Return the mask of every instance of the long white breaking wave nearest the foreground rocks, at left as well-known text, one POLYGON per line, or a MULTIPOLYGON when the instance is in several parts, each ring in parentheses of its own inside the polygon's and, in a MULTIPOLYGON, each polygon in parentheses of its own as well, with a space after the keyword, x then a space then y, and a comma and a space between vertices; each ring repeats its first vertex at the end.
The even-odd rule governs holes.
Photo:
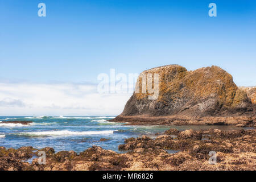
POLYGON ((38 131, 38 132, 26 132, 15 133, 14 135, 26 136, 26 137, 51 137, 51 136, 76 136, 76 135, 101 135, 101 134, 113 134, 115 130, 105 131, 38 131))

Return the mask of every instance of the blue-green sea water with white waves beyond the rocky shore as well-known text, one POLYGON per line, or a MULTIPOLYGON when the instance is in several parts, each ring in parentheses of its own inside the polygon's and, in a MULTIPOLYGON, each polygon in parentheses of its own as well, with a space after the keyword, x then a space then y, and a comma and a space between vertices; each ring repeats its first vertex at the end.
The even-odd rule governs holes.
POLYGON ((73 150, 81 152, 93 145, 118 151, 125 138, 149 135, 167 129, 238 129, 232 126, 126 126, 125 123, 109 122, 114 116, 86 117, 0 117, 0 146, 19 148, 53 147, 55 151, 73 150), (1 123, 2 121, 32 121, 30 125, 1 123), (100 142, 101 138, 109 139, 100 142))

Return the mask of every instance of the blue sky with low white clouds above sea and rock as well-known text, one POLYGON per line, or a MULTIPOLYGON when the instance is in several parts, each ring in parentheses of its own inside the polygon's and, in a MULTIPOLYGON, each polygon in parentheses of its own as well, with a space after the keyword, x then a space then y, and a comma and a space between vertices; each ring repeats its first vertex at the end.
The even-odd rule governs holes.
POLYGON ((256 85, 255 1, 0 0, 0 24, 0 115, 118 115, 131 93, 97 92, 110 69, 217 65, 256 85))

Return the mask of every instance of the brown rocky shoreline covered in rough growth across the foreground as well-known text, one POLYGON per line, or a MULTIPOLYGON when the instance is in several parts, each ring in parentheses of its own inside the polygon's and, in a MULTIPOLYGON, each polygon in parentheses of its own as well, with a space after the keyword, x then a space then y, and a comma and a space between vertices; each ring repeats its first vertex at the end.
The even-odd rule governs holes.
MULTIPOLYGON (((104 139, 101 140, 104 142, 104 139)), ((77 154, 46 147, 0 147, 0 170, 256 170, 256 130, 170 129, 155 137, 127 138, 119 154, 93 146, 77 154), (46 164, 38 153, 46 152, 46 164), (216 164, 209 164, 209 152, 216 164), (32 160, 34 159, 34 160, 32 160), (28 163, 28 160, 32 160, 28 163)))

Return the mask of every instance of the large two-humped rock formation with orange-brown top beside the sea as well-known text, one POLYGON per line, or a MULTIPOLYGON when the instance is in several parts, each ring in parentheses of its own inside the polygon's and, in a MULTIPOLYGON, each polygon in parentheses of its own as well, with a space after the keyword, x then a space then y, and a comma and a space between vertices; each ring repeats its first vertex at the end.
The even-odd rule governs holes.
MULTIPOLYGON (((143 75, 158 73, 159 96, 149 100, 148 92, 134 93, 123 112, 114 121, 138 120, 142 117, 226 117, 255 115, 254 104, 245 89, 233 82, 232 76, 217 66, 187 71, 180 65, 166 65, 141 73, 137 85, 142 87, 143 75), (126 119, 124 119, 126 118, 126 119), (129 118, 129 119, 127 119, 129 118)), ((154 83, 152 84, 154 86, 154 83)))

